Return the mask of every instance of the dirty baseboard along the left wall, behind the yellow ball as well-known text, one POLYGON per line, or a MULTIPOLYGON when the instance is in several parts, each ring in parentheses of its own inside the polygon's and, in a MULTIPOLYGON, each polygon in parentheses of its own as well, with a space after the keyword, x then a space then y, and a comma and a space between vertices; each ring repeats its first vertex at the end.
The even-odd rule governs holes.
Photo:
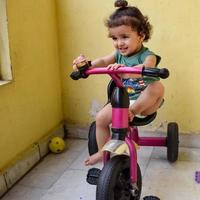
POLYGON ((34 143, 0 172, 0 197, 49 152, 48 144, 54 136, 64 137, 63 124, 34 143))

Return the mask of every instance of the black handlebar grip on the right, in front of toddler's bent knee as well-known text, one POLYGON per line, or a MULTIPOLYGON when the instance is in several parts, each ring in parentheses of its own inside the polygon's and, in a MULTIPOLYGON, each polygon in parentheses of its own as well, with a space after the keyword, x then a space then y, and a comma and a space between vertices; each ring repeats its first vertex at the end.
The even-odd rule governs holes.
POLYGON ((143 76, 160 77, 162 79, 168 78, 169 70, 166 68, 158 69, 152 67, 144 67, 142 70, 143 76))

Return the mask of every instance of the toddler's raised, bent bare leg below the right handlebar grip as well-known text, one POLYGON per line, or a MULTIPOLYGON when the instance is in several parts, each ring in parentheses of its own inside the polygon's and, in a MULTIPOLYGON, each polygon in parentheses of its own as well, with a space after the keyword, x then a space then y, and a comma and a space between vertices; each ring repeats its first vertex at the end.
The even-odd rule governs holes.
POLYGON ((161 82, 155 81, 147 86, 137 101, 130 107, 136 114, 149 115, 155 112, 163 99, 164 87, 161 82))

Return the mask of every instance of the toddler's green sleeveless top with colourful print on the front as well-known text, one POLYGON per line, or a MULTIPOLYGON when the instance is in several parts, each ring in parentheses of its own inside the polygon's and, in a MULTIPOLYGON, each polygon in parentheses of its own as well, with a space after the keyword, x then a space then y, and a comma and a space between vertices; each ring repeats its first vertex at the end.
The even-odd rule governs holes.
MULTIPOLYGON (((136 65, 144 63, 144 60, 149 55, 155 55, 157 58, 156 66, 159 64, 161 57, 150 51, 148 48, 142 46, 141 50, 131 56, 123 56, 119 52, 115 53, 116 63, 124 64, 128 67, 134 67, 136 65)), ((122 79, 124 86, 127 88, 127 92, 130 100, 136 100, 141 91, 143 91, 147 85, 154 81, 158 81, 159 78, 154 77, 141 77, 134 79, 122 79)))

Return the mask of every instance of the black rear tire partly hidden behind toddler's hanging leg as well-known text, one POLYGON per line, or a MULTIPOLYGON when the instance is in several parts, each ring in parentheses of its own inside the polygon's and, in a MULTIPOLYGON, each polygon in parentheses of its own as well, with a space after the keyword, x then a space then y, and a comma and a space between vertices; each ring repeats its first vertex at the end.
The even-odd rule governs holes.
POLYGON ((88 133, 88 152, 90 156, 98 152, 95 121, 91 123, 89 133, 88 133))

